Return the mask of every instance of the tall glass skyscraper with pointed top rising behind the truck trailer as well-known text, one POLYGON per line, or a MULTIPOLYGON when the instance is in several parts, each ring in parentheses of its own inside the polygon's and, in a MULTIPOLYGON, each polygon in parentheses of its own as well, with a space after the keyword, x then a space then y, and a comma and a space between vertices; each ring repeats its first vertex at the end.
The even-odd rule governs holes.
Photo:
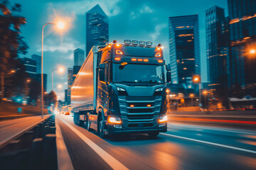
POLYGON ((97 4, 86 13, 86 56, 95 45, 105 45, 109 41, 109 20, 97 4))

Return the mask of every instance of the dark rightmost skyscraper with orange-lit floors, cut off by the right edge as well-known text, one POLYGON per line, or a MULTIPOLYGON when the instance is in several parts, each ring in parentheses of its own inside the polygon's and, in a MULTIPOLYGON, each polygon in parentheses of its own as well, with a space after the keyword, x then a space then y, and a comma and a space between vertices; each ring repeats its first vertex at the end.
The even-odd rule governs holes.
POLYGON ((228 0, 230 80, 234 86, 256 83, 256 1, 228 0))

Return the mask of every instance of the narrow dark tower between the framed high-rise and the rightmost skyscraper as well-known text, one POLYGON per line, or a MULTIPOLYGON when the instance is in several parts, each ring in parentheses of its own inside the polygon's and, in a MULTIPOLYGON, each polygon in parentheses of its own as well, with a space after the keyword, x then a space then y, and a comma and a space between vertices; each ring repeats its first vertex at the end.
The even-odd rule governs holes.
POLYGON ((229 74, 229 28, 224 8, 206 10, 206 56, 210 89, 227 89, 229 74))

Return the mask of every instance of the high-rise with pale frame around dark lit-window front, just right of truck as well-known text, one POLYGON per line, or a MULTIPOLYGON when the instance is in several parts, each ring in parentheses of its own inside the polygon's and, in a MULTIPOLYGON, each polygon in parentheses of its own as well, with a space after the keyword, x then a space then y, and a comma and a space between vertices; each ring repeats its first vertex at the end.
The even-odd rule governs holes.
POLYGON ((200 75, 198 31, 198 15, 169 17, 169 54, 173 84, 188 84, 193 75, 200 75))

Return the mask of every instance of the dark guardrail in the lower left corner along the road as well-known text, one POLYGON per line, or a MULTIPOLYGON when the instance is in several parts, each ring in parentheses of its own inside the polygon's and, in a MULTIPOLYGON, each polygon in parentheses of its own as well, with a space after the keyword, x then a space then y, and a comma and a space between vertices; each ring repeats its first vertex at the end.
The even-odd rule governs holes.
POLYGON ((51 115, 13 137, 0 149, 0 169, 58 169, 55 129, 51 115))

